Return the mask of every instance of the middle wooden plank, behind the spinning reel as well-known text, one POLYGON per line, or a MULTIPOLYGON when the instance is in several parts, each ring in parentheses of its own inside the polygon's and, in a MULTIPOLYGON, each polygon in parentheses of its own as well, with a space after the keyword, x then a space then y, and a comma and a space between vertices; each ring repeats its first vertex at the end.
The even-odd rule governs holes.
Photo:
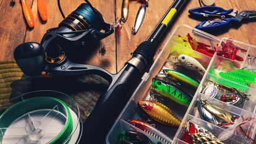
MULTIPOLYGON (((61 1, 61 7, 64 14, 66 16, 69 15, 70 12, 77 9, 77 7, 82 2, 84 1, 61 1)), ((58 27, 59 23, 61 22, 62 16, 59 12, 57 1, 46 0, 46 4, 48 6, 49 19, 48 22, 42 23, 40 21, 40 15, 38 14, 37 10, 37 2, 33 2, 32 12, 35 15, 35 28, 33 30, 27 31, 25 41, 40 42, 46 30, 48 30, 49 28, 58 27)), ((107 22, 114 22, 114 1, 92 1, 92 4, 94 7, 96 7, 96 9, 99 9, 99 11, 103 14, 107 22)), ((106 70, 109 70, 109 72, 116 73, 116 57, 113 57, 113 55, 115 55, 115 51, 115 39, 114 35, 111 35, 108 38, 105 38, 103 41, 101 41, 98 48, 95 48, 95 51, 93 51, 92 53, 90 52, 90 56, 86 55, 87 57, 82 58, 87 59, 87 61, 85 61, 86 64, 100 66, 105 68, 106 70), (101 48, 106 49, 105 56, 102 56, 99 53, 99 50, 101 48)))

